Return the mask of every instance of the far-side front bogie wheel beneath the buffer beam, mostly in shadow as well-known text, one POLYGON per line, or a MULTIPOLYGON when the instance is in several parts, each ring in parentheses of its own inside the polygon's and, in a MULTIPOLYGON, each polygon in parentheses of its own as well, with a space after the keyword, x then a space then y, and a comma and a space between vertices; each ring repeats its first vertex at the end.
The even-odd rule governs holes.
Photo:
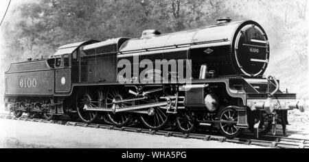
POLYGON ((254 133, 254 124, 255 119, 261 118, 260 125, 259 125, 259 133, 260 135, 265 135, 266 133, 270 132, 272 129, 272 117, 268 115, 266 112, 257 112, 254 115, 248 116, 248 124, 249 130, 254 133), (260 117, 259 117, 260 116, 260 117))

